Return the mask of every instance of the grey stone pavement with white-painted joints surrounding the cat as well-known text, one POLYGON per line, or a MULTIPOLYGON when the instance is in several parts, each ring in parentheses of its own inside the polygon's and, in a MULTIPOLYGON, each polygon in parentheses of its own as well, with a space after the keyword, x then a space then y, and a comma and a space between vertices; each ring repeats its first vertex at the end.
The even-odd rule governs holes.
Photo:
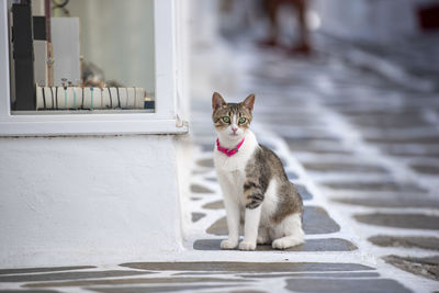
POLYGON ((182 251, 120 264, 0 270, 0 292, 439 290, 438 94, 402 90, 323 54, 291 58, 241 44, 233 57, 243 79, 224 95, 257 94, 252 128, 303 196, 306 243, 286 251, 219 249, 226 223, 205 92, 193 101, 182 251))

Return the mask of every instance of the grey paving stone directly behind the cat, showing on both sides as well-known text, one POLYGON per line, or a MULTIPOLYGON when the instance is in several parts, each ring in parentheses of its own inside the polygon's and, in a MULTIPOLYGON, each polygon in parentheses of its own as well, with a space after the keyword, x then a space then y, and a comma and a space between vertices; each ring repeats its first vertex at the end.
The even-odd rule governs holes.
MULTIPOLYGON (((327 234, 338 232, 340 226, 329 217, 324 209, 319 206, 304 206, 303 230, 305 234, 327 234)), ((226 217, 217 219, 206 232, 213 235, 228 235, 226 217)), ((243 233, 240 234, 243 235, 243 233)))

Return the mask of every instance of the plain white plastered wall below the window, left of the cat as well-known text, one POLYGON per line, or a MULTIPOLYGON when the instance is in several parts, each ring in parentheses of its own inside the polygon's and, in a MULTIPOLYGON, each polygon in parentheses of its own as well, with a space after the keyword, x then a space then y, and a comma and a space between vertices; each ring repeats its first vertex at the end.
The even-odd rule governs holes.
POLYGON ((0 268, 181 248, 175 136, 0 138, 0 268))

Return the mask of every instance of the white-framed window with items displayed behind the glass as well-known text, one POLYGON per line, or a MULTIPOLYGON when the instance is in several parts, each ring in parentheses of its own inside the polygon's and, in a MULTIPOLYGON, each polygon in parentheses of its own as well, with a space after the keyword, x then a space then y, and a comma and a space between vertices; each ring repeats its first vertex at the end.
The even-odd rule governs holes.
POLYGON ((173 0, 1 1, 0 135, 185 132, 173 10, 173 0))

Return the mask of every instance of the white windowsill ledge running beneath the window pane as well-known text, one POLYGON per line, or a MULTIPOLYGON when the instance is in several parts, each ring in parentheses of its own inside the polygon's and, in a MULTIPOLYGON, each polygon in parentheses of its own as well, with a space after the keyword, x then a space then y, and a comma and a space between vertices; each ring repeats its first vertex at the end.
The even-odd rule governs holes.
MULTIPOLYGON (((24 117, 23 115, 20 115, 24 117)), ((55 115, 50 115, 54 117, 55 115)), ((75 115, 75 117, 83 115, 75 115)), ((106 115, 105 115, 106 116, 106 115)), ((188 124, 177 120, 128 119, 131 114, 117 115, 120 119, 105 120, 30 120, 0 121, 0 136, 66 136, 66 135, 120 135, 120 134, 185 134, 188 124)), ((38 117, 38 116, 31 116, 38 117)), ((42 116, 40 116, 42 117, 42 116)))

